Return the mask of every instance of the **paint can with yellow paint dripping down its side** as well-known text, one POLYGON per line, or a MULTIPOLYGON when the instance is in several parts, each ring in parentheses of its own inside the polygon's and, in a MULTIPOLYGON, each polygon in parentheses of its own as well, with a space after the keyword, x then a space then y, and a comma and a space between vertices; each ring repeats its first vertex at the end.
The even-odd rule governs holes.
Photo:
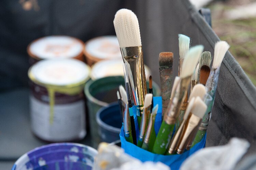
POLYGON ((30 67, 30 114, 34 135, 51 142, 85 137, 83 88, 89 73, 89 66, 75 59, 42 60, 30 67))

